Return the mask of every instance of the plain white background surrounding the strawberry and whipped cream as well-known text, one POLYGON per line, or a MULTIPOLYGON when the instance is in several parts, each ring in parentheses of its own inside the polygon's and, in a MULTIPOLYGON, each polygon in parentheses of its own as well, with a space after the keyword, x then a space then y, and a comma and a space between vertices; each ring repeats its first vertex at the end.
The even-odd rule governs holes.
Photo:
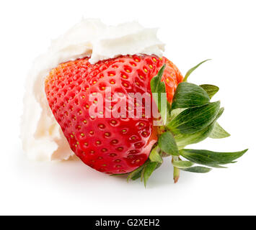
POLYGON ((256 214, 255 9, 255 0, 1 1, 0 214, 256 214), (195 147, 249 152, 229 169, 182 172, 176 185, 167 160, 146 189, 81 162, 28 161, 19 140, 25 77, 50 40, 83 16, 107 24, 138 19, 145 27, 160 27, 164 55, 183 74, 212 58, 190 81, 221 88, 215 99, 225 106, 220 123, 231 137, 195 147))

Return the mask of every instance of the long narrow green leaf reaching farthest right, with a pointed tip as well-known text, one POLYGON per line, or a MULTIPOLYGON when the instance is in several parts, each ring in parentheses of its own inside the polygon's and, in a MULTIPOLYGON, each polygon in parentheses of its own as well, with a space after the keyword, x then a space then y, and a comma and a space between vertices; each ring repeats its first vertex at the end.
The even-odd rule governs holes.
POLYGON ((181 149, 180 155, 199 165, 221 167, 220 165, 232 163, 237 158, 242 157, 247 150, 241 152, 212 152, 200 149, 181 149))

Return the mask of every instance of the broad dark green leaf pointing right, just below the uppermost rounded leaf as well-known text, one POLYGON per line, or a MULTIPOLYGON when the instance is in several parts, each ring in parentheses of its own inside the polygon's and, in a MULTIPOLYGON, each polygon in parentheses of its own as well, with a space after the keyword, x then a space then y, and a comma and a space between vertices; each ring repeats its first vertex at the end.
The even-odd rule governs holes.
POLYGON ((193 134, 205 129, 219 113, 220 102, 208 103, 182 111, 167 124, 174 134, 193 134))

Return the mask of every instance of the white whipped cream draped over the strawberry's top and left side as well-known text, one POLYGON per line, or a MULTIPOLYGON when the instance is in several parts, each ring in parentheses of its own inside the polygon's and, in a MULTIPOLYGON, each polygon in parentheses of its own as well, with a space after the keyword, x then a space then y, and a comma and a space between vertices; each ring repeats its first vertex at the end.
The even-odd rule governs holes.
POLYGON ((68 160, 74 156, 45 95, 45 77, 52 68, 81 57, 90 57, 92 64, 120 55, 161 57, 164 44, 156 32, 157 29, 144 28, 138 22, 107 26, 99 19, 82 19, 53 40, 27 76, 21 124, 22 147, 27 156, 32 160, 68 160))

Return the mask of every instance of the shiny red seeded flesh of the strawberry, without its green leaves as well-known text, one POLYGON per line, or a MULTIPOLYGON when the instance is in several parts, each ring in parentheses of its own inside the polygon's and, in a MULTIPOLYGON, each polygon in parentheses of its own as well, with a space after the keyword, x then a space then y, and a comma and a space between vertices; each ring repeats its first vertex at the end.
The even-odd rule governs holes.
MULTIPOLYGON (((89 116, 89 108, 97 101, 89 101, 89 95, 105 98, 105 90, 115 93, 115 102, 128 98, 128 93, 151 93, 150 81, 166 64, 164 80, 167 99, 172 101, 182 75, 167 60, 149 55, 121 56, 91 65, 83 58, 58 65, 45 80, 45 93, 50 109, 61 126, 71 149, 81 160, 100 172, 120 174, 131 172, 146 162, 157 139, 153 119, 101 118, 89 116), (118 93, 118 94, 116 94, 118 93)), ((145 111, 145 103, 141 105, 145 111)), ((129 111, 126 106, 125 113, 129 111)))

